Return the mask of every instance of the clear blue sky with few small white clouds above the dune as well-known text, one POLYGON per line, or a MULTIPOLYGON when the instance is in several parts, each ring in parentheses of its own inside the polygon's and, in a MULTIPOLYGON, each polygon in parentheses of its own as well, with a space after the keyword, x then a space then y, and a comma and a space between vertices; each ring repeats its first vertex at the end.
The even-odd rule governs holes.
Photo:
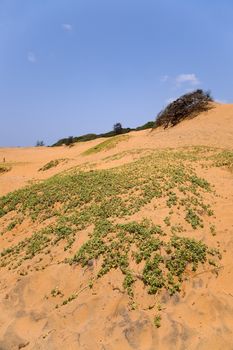
POLYGON ((0 0, 0 146, 153 120, 196 88, 233 102, 232 0, 0 0))

